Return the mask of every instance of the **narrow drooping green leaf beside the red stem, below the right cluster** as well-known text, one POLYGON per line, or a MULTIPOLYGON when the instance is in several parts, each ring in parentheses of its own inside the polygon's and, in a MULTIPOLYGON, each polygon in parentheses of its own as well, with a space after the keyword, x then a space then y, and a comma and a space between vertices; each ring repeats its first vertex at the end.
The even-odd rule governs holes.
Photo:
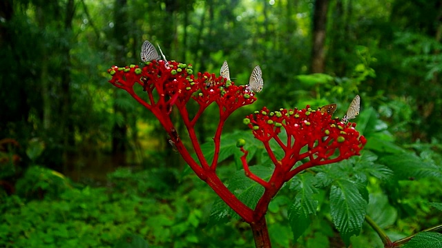
POLYGON ((289 223, 294 240, 304 233, 311 224, 311 216, 316 215, 318 200, 314 200, 313 195, 317 193, 314 184, 316 178, 311 174, 298 174, 291 180, 290 189, 297 191, 294 203, 289 207, 289 223))

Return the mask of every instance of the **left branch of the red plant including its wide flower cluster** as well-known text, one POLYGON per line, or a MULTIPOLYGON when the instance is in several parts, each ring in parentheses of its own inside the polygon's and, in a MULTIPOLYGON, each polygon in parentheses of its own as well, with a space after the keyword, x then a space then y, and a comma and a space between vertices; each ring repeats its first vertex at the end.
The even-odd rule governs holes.
POLYGON ((164 130, 171 137, 170 142, 175 144, 184 161, 189 164, 197 176, 204 180, 229 207, 240 214, 248 223, 251 223, 253 211, 229 192, 229 189, 216 175, 215 169, 218 163, 220 136, 224 121, 239 107, 255 102, 256 97, 253 92, 247 91, 244 85, 237 86, 221 76, 217 77, 215 74, 209 74, 208 72, 198 72, 198 75, 194 76, 192 65, 175 61, 166 63, 165 61, 154 60, 146 62, 143 68, 138 65, 130 65, 125 68, 113 66, 108 72, 112 75, 110 83, 126 90, 135 100, 155 114, 164 130), (146 92, 147 97, 137 94, 141 90, 135 92, 134 87, 137 86, 146 92), (198 112, 192 118, 189 116, 186 107, 189 101, 195 101, 199 105, 198 112), (212 103, 218 105, 220 121, 213 137, 215 142, 213 161, 206 161, 194 127, 206 107, 212 103), (184 125, 186 125, 187 135, 190 137, 198 162, 191 157, 189 151, 184 147, 180 135, 173 126, 170 117, 173 105, 179 110, 184 125))

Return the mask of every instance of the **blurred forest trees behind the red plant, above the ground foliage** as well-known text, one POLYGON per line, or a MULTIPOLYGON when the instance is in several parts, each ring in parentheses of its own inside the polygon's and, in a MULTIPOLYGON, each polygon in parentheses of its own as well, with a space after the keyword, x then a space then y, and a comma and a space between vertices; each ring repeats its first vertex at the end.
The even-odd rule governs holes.
MULTIPOLYGON (((47 184, 30 186, 38 175, 66 187, 104 186, 117 168, 156 169, 173 185, 186 165, 162 127, 108 83, 112 65, 141 62, 144 40, 195 72, 219 75, 227 60, 238 84, 260 65, 257 103, 234 113, 224 132, 247 130, 242 118, 263 106, 337 103, 334 116, 342 117, 359 94, 361 112, 374 110, 396 144, 438 145, 441 36, 436 0, 1 1, 2 194, 45 198, 47 184), (41 171, 29 172, 31 165, 41 171)), ((201 142, 213 137, 216 115, 204 114, 201 142)), ((126 172, 111 178, 128 187, 126 172)))

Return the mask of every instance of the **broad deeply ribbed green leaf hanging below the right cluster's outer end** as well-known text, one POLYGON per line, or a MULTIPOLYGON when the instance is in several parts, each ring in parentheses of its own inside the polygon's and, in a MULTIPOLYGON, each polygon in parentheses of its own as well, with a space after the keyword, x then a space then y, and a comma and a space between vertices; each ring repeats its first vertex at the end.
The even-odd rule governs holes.
POLYGON ((348 246, 350 237, 361 232, 367 201, 354 187, 354 183, 340 180, 330 190, 330 211, 336 229, 348 246))

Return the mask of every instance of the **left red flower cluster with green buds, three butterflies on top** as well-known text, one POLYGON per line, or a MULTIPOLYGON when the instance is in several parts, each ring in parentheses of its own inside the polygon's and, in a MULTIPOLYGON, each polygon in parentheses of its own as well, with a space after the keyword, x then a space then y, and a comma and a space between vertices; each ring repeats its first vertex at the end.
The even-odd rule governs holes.
MULTIPOLYGON (((189 99, 195 100, 204 110, 211 103, 220 106, 222 114, 228 116, 239 107, 249 105, 256 101, 253 92, 248 92, 243 85, 222 78, 215 74, 198 72, 193 75, 192 65, 177 63, 175 61, 146 62, 143 68, 130 65, 125 68, 113 66, 108 72, 112 75, 110 83, 122 88, 134 96, 133 86, 139 84, 147 92, 148 102, 142 104, 151 110, 157 107, 166 110, 169 114, 172 105, 184 107, 189 99), (157 97, 154 97, 156 90, 157 97)), ((134 96, 137 101, 142 99, 134 96)), ((226 117, 227 117, 226 116, 226 117)))

